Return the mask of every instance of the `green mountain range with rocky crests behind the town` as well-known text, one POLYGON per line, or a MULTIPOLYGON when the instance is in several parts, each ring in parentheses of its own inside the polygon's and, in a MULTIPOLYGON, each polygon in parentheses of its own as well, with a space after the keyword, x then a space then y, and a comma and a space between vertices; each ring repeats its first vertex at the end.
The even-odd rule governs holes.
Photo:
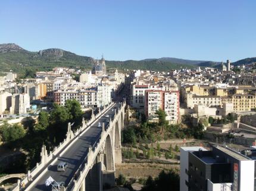
MULTIPOLYGON (((27 69, 33 71, 49 71, 56 66, 70 68, 80 67, 90 69, 93 58, 79 56, 62 49, 45 49, 39 52, 31 52, 14 43, 0 44, 0 72, 7 72, 12 69, 18 74, 24 74, 27 69)), ((256 62, 256 58, 246 58, 233 65, 248 64, 256 62)), ((195 68, 197 66, 218 67, 221 62, 212 61, 191 61, 178 58, 155 58, 143 59, 141 61, 106 61, 107 69, 143 69, 154 71, 169 71, 171 69, 195 68)))

